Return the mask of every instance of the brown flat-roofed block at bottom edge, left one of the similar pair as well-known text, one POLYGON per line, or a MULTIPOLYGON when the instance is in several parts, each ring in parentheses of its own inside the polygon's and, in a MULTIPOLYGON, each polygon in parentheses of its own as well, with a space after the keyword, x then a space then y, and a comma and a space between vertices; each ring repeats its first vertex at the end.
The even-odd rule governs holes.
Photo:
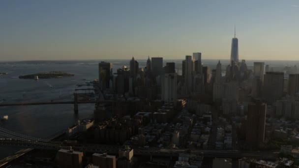
POLYGON ((58 151, 59 165, 61 168, 82 168, 82 152, 72 149, 60 149, 58 151))

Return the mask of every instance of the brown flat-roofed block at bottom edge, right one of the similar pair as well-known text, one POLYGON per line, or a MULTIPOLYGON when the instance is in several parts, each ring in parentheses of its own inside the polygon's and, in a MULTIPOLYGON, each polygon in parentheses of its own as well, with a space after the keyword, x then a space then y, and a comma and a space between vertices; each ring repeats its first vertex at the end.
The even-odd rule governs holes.
POLYGON ((92 164, 100 168, 116 168, 116 157, 106 153, 94 153, 92 154, 92 164))

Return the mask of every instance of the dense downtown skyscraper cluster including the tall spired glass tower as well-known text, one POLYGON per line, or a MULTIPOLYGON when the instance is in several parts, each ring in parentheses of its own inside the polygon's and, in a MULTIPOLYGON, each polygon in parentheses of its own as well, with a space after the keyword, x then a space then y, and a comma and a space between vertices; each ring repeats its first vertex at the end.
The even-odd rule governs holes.
POLYGON ((299 118, 299 74, 296 66, 285 67, 285 73, 275 72, 264 62, 247 66, 244 59, 239 61, 238 42, 235 32, 229 64, 218 60, 211 70, 203 66, 201 53, 193 53, 182 60, 181 75, 174 62, 163 63, 162 57, 148 57, 144 68, 132 57, 129 68, 123 66, 114 75, 111 63, 100 62, 100 88, 126 99, 138 97, 174 105, 178 99, 186 99, 188 110, 199 115, 214 108, 224 116, 247 116, 243 136, 249 145, 259 146, 265 141, 266 113, 299 118))

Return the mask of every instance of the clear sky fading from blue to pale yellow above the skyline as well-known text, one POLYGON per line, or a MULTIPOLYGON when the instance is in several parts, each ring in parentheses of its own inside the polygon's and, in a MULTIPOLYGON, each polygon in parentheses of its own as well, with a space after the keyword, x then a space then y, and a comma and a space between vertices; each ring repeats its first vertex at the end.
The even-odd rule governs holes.
POLYGON ((298 60, 299 0, 0 0, 0 60, 298 60))

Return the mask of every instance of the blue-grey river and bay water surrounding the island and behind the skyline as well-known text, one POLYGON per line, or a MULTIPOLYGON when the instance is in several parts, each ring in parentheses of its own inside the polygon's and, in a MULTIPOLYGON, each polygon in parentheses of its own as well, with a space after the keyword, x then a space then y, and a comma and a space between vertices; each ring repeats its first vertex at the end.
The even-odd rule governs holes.
MULTIPOLYGON (((105 60, 114 64, 114 72, 122 65, 129 65, 129 60, 105 60)), ((146 65, 145 60, 138 60, 139 66, 146 65)), ((7 75, 0 76, 0 103, 22 102, 48 102, 72 100, 72 95, 77 84, 85 84, 98 79, 99 60, 88 61, 21 61, 0 62, 0 72, 7 75), (74 74, 73 77, 60 79, 26 80, 18 76, 48 72, 63 71, 74 74)), ((176 62, 179 74, 181 73, 181 60, 164 60, 176 62)), ((218 60, 203 60, 204 65, 215 68, 218 60)), ((221 60, 222 69, 229 60, 221 60)), ((267 61, 266 61, 267 63, 267 61)), ((298 64, 298 61, 269 61, 276 67, 298 64)), ((253 61, 247 62, 252 66, 253 61)), ((77 122, 78 119, 93 114, 94 105, 79 105, 79 114, 74 114, 73 105, 39 105, 39 106, 15 106, 0 107, 0 116, 8 115, 9 119, 0 122, 0 127, 33 137, 46 138, 77 122)), ((20 148, 0 147, 0 158, 16 152, 20 148)))

